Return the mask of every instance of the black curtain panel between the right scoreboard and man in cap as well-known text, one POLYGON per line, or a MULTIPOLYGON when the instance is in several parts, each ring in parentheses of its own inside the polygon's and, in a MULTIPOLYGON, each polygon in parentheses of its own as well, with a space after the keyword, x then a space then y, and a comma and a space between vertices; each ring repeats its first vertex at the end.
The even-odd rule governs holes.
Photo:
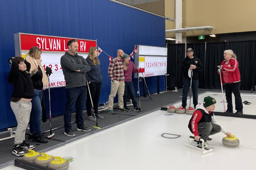
POLYGON ((174 90, 175 87, 183 88, 183 74, 181 62, 185 58, 185 44, 167 45, 167 90, 174 90))

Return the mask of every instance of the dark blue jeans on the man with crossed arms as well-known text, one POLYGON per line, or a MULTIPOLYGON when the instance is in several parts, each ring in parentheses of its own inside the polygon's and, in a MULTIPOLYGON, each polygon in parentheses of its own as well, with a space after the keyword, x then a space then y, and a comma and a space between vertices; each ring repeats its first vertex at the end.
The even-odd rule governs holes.
POLYGON ((71 126, 71 113, 75 105, 75 120, 77 122, 77 128, 81 129, 83 124, 83 108, 85 107, 86 100, 86 86, 66 88, 67 103, 64 111, 64 128, 65 132, 69 132, 72 129, 71 126))

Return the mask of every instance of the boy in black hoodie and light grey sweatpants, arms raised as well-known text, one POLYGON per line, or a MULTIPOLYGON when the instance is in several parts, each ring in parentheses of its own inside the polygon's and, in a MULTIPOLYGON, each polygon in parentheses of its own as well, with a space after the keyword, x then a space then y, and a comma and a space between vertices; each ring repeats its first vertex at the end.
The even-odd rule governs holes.
POLYGON ((23 156, 25 155, 23 150, 35 148, 35 146, 25 142, 25 132, 32 108, 30 101, 34 96, 34 88, 28 72, 30 63, 21 57, 12 57, 8 61, 11 65, 11 71, 7 80, 13 84, 10 105, 18 123, 12 153, 16 156, 23 156))

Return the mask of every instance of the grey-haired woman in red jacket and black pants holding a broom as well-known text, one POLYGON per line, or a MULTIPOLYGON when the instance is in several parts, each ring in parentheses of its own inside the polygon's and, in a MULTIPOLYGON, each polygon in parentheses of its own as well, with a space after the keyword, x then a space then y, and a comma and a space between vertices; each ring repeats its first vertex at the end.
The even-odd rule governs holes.
POLYGON ((240 72, 237 56, 232 50, 224 51, 224 61, 221 63, 221 79, 226 87, 227 113, 233 113, 232 92, 235 96, 235 109, 237 114, 243 114, 243 104, 240 95, 240 72))

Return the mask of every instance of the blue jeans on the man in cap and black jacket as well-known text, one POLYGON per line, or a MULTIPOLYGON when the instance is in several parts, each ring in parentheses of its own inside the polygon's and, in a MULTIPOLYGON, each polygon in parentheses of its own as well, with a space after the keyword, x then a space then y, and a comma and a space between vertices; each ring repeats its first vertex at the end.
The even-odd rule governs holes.
MULTIPOLYGON (((182 92, 182 106, 187 106, 187 94, 189 92, 190 87, 190 78, 183 78, 183 92, 182 92)), ((192 92, 193 92, 193 104, 194 107, 198 104, 198 94, 197 94, 197 88, 198 88, 199 80, 192 79, 192 92)))

